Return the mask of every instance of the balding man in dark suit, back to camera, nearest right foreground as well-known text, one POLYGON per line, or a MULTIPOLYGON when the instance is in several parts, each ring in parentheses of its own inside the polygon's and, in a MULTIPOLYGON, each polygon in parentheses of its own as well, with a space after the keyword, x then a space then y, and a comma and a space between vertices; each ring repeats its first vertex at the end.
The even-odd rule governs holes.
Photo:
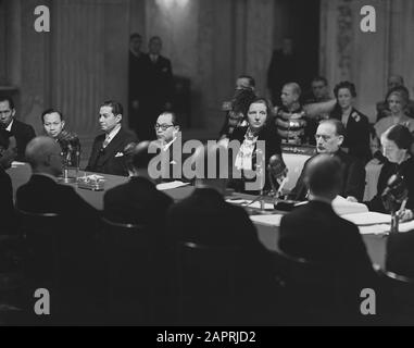
MULTIPOLYGON (((291 257, 326 270, 326 285, 338 291, 338 297, 326 294, 327 303, 328 296, 341 299, 341 304, 346 304, 342 310, 354 316, 361 314, 362 289, 375 288, 376 276, 357 227, 333 209, 331 202, 341 189, 342 178, 342 163, 338 158, 318 154, 311 159, 304 173, 310 202, 281 219, 278 247, 291 257)), ((324 284, 323 279, 319 282, 324 284)), ((339 313, 335 303, 330 306, 339 313)))

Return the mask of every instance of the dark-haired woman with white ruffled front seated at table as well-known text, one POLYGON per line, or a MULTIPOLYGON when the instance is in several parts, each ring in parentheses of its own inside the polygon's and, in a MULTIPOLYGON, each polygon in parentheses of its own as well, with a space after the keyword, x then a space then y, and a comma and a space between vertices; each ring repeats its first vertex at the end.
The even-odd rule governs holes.
POLYGON ((249 189, 246 184, 256 182, 259 186, 264 184, 264 190, 271 188, 266 169, 272 156, 281 157, 280 138, 266 99, 256 98, 250 103, 247 120, 249 125, 236 128, 230 137, 230 147, 231 140, 241 145, 237 153, 233 153, 233 164, 241 172, 241 179, 234 179, 230 186, 239 191, 256 194, 261 187, 249 189))

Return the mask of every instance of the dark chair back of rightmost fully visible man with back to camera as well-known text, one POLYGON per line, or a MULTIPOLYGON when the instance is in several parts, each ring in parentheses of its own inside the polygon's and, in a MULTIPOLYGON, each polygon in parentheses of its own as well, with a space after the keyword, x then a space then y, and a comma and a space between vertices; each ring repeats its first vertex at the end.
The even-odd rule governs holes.
POLYGON ((292 324, 346 324, 359 316, 357 286, 335 264, 274 252, 292 324))

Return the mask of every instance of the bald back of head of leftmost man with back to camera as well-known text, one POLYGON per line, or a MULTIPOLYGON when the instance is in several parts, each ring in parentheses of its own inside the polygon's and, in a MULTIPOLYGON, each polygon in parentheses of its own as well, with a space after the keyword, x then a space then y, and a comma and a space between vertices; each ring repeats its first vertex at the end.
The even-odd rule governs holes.
POLYGON ((62 174, 61 147, 49 137, 37 137, 26 147, 26 160, 34 173, 62 174))

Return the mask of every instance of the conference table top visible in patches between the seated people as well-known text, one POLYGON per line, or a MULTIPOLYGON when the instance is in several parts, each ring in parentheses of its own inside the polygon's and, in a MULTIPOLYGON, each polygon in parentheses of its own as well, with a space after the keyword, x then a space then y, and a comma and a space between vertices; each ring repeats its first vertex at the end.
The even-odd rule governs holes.
MULTIPOLYGON (((30 167, 27 164, 17 163, 14 164, 12 169, 8 171, 10 177, 12 178, 13 184, 13 190, 14 195, 18 187, 24 185, 28 182, 32 171, 30 167)), ((79 173, 79 177, 84 175, 89 175, 92 173, 79 173)), ((77 187, 76 184, 67 184, 74 187, 74 189, 83 197, 89 204, 95 207, 98 210, 103 209, 103 197, 104 192, 113 187, 116 187, 118 185, 127 183, 127 177, 122 176, 114 176, 114 175, 102 175, 104 176, 104 189, 95 191, 95 190, 88 190, 77 187)), ((191 192, 195 190, 195 187, 187 185, 181 186, 178 188, 173 189, 166 189, 164 192, 168 196, 171 196, 175 201, 179 201, 188 196, 191 195, 191 192)), ((237 194, 237 192, 229 192, 228 197, 226 199, 231 201, 237 201, 237 199, 242 200, 253 200, 255 197, 243 195, 243 194, 237 194)), ((262 212, 260 209, 247 209, 250 215, 259 215, 262 212)), ((266 211, 266 214, 276 214, 276 213, 283 213, 278 211, 266 211)), ((260 222, 254 222, 256 229, 258 229, 258 236, 261 243, 269 250, 275 251, 277 250, 277 240, 278 240, 278 226, 264 224, 260 222)), ((387 243, 387 236, 381 234, 377 235, 375 233, 373 234, 363 234, 363 239, 366 244, 368 254, 373 261, 373 263, 378 264, 380 266, 385 265, 385 258, 386 258, 386 243, 387 243)), ((352 254, 349 256, 352 258, 352 254)))

